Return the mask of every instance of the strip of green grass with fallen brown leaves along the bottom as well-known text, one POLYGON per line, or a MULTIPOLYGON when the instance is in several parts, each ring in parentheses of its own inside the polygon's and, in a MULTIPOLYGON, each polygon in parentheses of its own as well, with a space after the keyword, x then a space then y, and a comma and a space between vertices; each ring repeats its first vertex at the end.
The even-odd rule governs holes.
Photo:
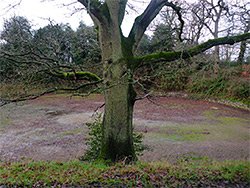
POLYGON ((185 158, 179 163, 136 163, 113 165, 20 161, 0 163, 0 185, 68 187, 204 187, 250 183, 249 161, 216 162, 207 158, 185 158), (189 159, 189 160, 188 160, 189 159))

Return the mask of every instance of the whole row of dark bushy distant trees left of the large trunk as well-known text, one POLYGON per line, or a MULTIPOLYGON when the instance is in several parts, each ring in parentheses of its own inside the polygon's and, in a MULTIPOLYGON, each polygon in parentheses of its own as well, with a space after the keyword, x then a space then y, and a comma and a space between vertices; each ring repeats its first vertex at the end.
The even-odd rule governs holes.
MULTIPOLYGON (((95 72, 102 69, 97 67, 101 61, 97 35, 93 27, 84 24, 77 31, 69 25, 52 23, 31 30, 27 19, 13 17, 5 21, 1 39, 0 72, 12 70, 9 71, 12 77, 15 70, 23 80, 37 77, 38 81, 52 81, 56 77, 65 79, 62 72, 85 71, 90 65, 95 72)), ((75 78, 74 74, 71 76, 75 78)))

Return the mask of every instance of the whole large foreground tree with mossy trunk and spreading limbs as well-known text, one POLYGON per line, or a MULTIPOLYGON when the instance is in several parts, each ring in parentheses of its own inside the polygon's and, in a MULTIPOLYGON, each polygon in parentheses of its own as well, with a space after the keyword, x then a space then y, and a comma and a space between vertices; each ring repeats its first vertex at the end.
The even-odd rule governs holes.
MULTIPOLYGON (((135 71, 149 64, 159 66, 161 62, 190 58, 214 46, 234 44, 250 39, 250 33, 244 33, 237 36, 208 40, 187 50, 161 51, 138 57, 134 56, 134 52, 139 46, 147 27, 165 6, 171 7, 176 11, 176 16, 180 21, 178 35, 180 41, 182 41, 184 21, 179 6, 167 0, 151 0, 143 13, 135 19, 128 37, 125 37, 121 30, 121 24, 128 6, 128 0, 78 0, 78 2, 87 9, 99 34, 103 78, 100 79, 89 72, 77 71, 67 73, 55 71, 53 74, 61 78, 75 80, 90 77, 89 80, 94 84, 103 82, 105 88, 103 89, 105 112, 99 157, 112 161, 136 159, 132 136, 133 108, 137 100, 133 87, 136 82, 133 79, 135 71)), ((50 90, 49 92, 55 90, 50 90)))

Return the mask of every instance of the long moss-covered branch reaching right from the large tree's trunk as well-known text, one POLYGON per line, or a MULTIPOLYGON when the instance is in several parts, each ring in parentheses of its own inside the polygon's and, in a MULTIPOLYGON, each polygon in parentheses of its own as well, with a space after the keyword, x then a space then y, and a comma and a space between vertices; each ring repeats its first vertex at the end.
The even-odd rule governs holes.
POLYGON ((223 45, 223 44, 233 45, 237 42, 241 42, 247 39, 250 39, 250 33, 244 33, 241 35, 236 35, 236 36, 231 36, 231 37, 210 39, 207 42, 204 42, 198 46, 189 48, 188 50, 174 51, 174 52, 160 52, 160 53, 154 53, 154 54, 135 58, 136 63, 134 66, 135 68, 138 68, 148 63, 152 63, 152 62, 158 62, 158 61, 170 62, 170 61, 177 60, 179 58, 187 59, 199 53, 202 53, 214 46, 223 45))

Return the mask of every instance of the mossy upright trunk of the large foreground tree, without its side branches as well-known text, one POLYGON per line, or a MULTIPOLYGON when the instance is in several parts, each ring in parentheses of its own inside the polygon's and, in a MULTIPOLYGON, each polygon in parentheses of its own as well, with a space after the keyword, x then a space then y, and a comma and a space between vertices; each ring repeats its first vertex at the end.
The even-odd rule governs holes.
MULTIPOLYGON (((104 65, 105 112, 100 158, 111 161, 136 159, 133 145, 133 107, 136 93, 130 82, 128 58, 122 48, 119 1, 106 1, 106 17, 96 20, 104 65)), ((105 7, 104 7, 105 8, 105 7)), ((126 49, 131 50, 131 49, 126 49)))

